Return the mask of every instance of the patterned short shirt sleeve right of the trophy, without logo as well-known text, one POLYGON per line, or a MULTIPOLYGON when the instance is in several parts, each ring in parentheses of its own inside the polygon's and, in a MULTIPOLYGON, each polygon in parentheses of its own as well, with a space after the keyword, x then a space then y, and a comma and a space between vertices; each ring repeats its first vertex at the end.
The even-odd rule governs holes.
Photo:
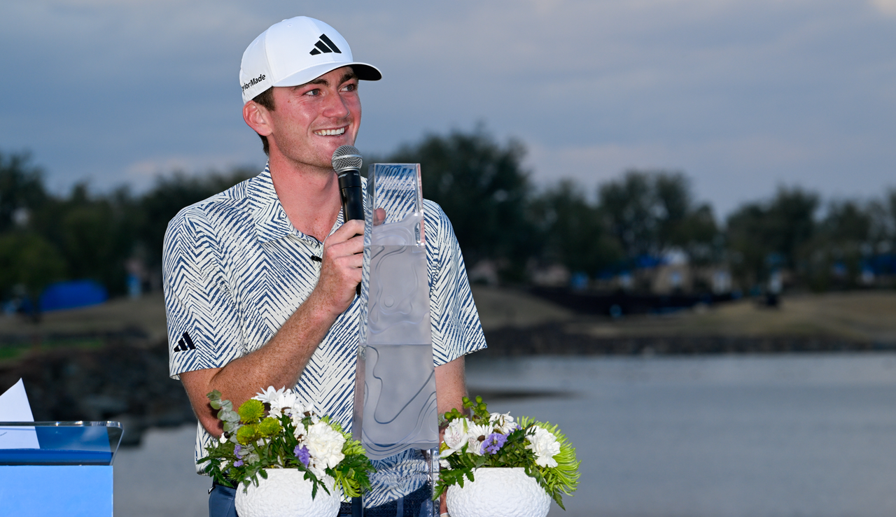
POLYGON ((485 349, 486 337, 451 221, 435 202, 424 207, 433 361, 439 366, 485 349))

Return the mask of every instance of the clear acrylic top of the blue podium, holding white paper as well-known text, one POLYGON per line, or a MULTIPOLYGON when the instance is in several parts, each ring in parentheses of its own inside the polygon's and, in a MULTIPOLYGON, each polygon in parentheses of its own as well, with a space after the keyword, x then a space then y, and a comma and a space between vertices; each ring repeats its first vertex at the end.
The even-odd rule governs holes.
POLYGON ((31 432, 40 448, 0 449, 0 465, 111 465, 124 429, 119 422, 0 422, 0 434, 31 432))

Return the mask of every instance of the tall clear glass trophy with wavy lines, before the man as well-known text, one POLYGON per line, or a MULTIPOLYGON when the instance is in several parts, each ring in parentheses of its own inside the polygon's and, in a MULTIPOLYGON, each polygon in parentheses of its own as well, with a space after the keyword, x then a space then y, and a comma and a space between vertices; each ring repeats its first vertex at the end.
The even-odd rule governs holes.
POLYGON ((378 471, 364 514, 437 516, 438 408, 420 166, 371 165, 366 195, 352 429, 378 471))

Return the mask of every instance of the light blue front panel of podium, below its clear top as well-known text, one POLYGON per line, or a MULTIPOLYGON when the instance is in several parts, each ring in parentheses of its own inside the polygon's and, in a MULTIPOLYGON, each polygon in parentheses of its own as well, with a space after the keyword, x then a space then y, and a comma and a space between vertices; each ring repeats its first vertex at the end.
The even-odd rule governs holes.
POLYGON ((0 465, 0 513, 112 517, 112 466, 0 465))

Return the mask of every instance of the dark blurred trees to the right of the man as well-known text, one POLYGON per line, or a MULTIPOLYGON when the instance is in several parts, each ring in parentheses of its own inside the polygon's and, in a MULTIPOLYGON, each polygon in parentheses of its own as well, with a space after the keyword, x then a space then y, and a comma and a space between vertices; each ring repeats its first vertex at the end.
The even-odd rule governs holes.
POLYGON ((451 217, 468 266, 494 261, 503 280, 524 282, 533 268, 556 263, 606 278, 670 250, 695 267, 726 268, 744 291, 762 289, 775 271, 813 290, 853 289, 863 273, 896 272, 896 190, 823 203, 780 187, 719 221, 681 172, 629 170, 596 187, 564 179, 536 190, 524 156, 521 142, 477 129, 427 135, 386 160, 422 164, 424 195, 451 217))

